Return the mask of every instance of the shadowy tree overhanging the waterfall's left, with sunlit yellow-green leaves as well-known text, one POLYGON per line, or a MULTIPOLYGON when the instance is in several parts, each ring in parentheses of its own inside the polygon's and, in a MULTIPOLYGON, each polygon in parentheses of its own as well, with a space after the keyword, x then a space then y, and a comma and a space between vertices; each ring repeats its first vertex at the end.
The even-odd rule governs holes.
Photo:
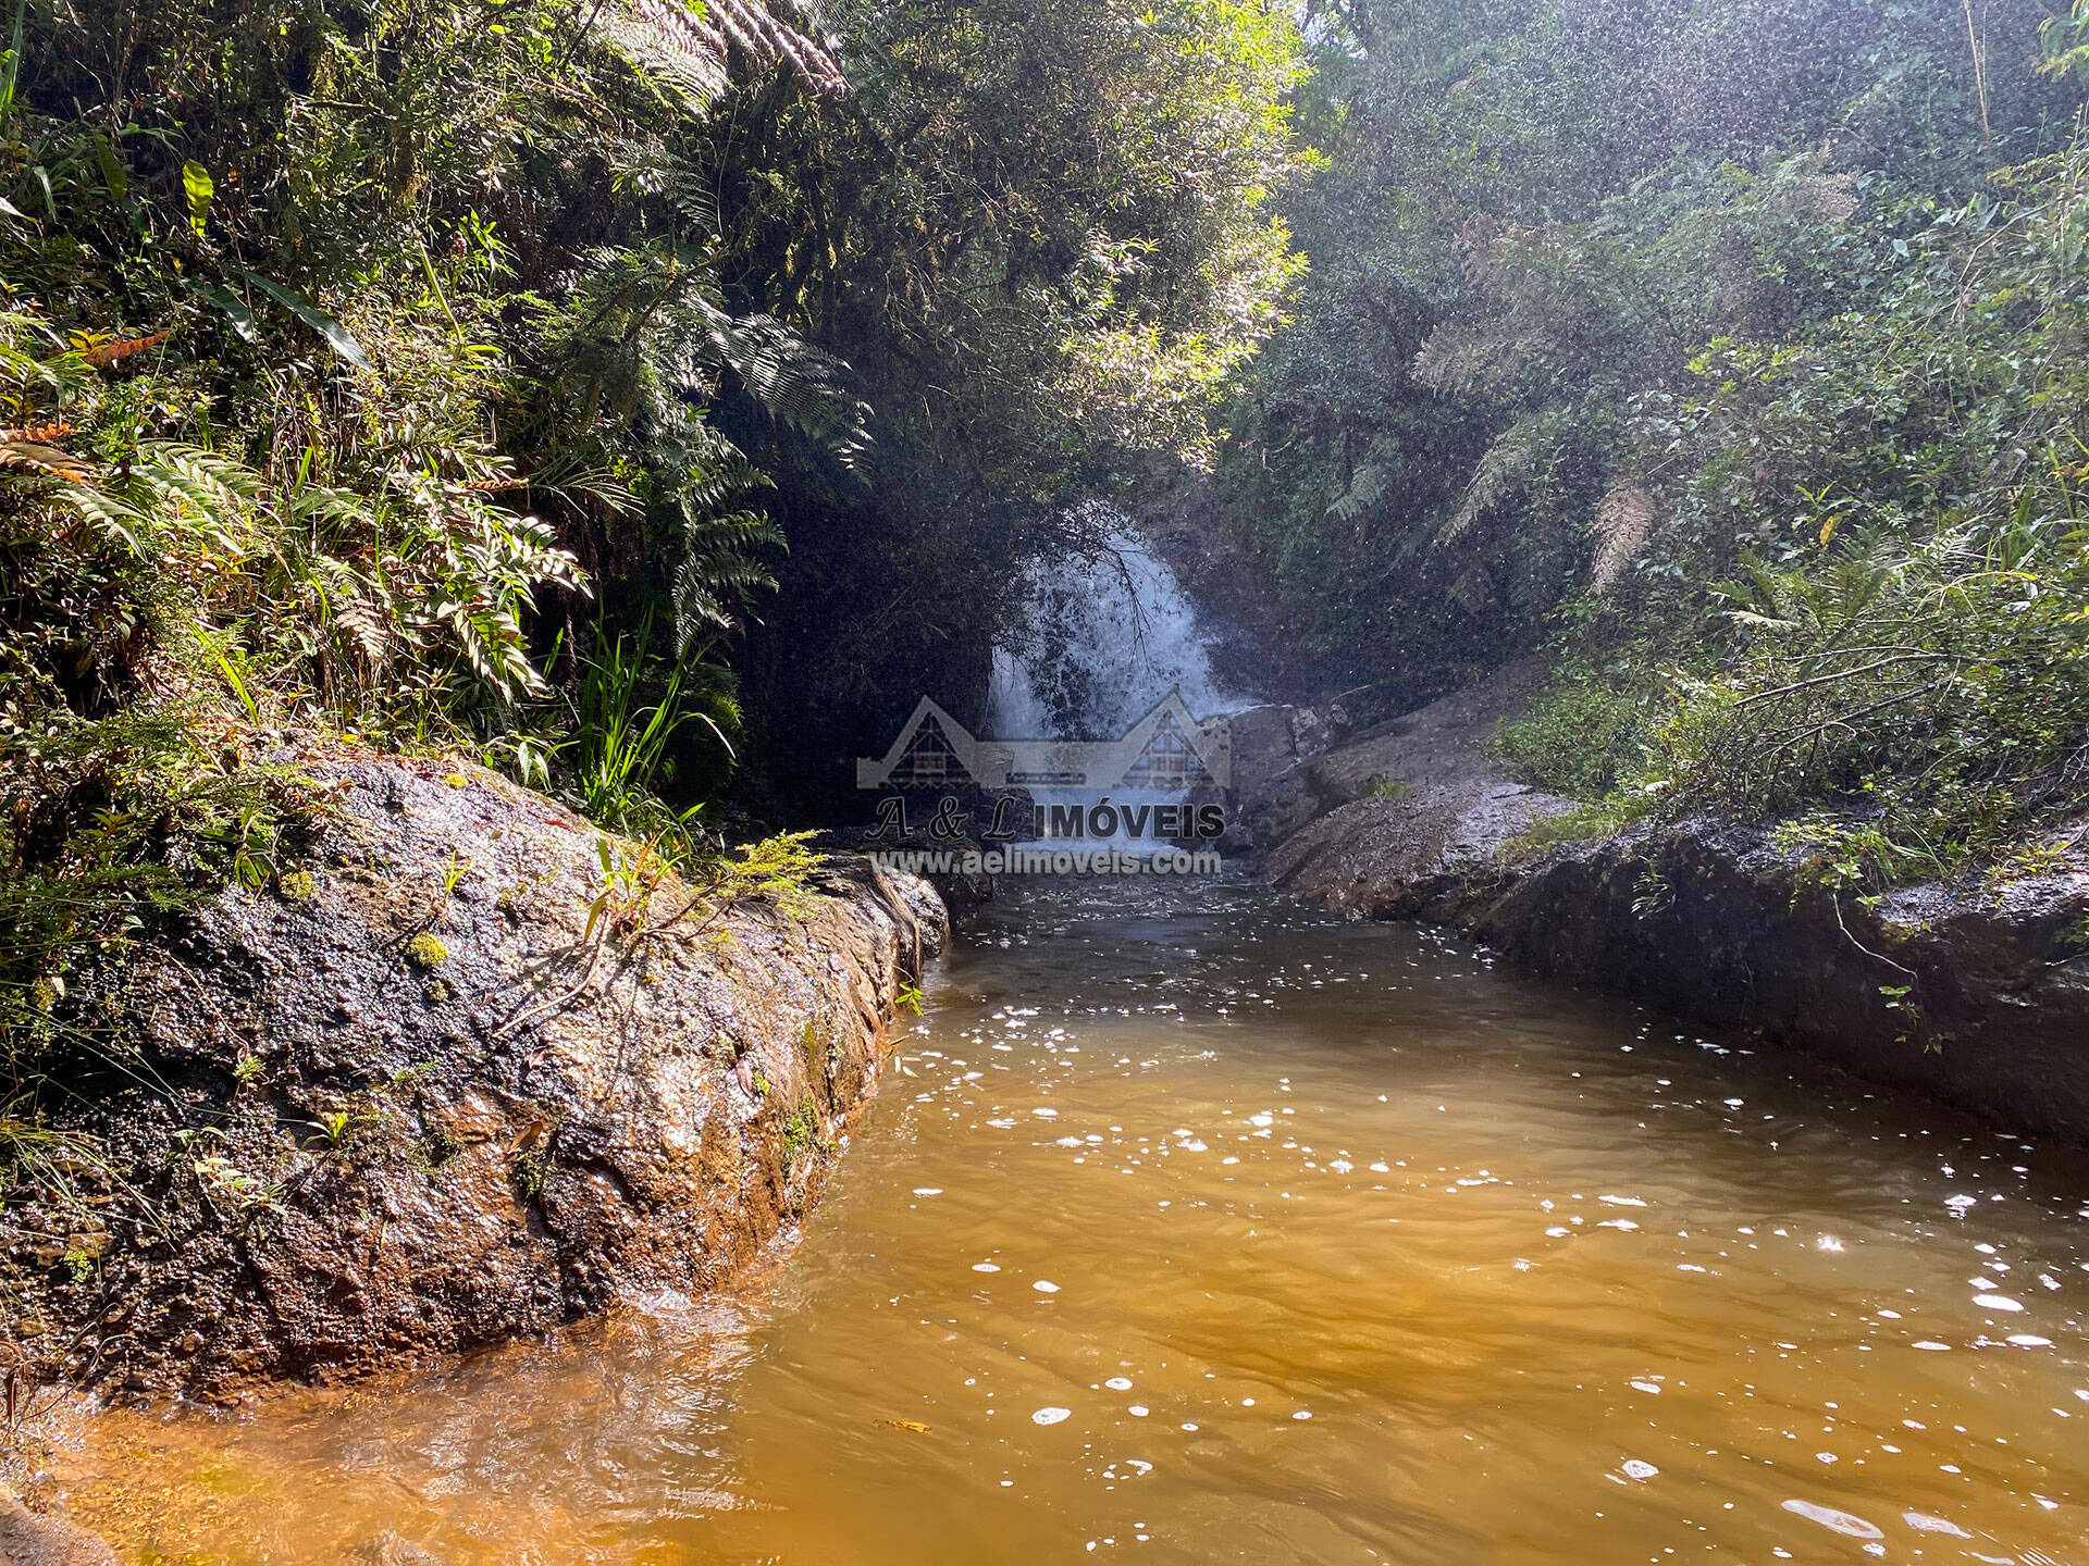
POLYGON ((1297 274, 1306 165, 1283 6, 867 6, 854 90, 721 119, 729 294, 802 322, 879 411, 838 491, 758 432, 792 539, 744 662, 781 800, 846 789, 923 691, 986 697, 1024 566, 1134 453, 1201 459, 1205 409, 1297 274))

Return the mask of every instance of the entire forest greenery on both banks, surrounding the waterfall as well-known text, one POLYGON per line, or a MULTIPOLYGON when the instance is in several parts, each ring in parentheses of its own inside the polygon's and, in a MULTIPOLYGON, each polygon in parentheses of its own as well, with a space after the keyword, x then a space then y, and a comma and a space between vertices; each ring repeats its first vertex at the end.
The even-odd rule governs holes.
POLYGON ((2081 6, 8 25, 19 1063, 295 867, 295 743, 714 858, 982 699, 1080 501, 1184 480, 1293 685, 1546 649, 1504 750, 1588 800, 1554 831, 1769 810, 1868 887, 2072 844, 2081 6))

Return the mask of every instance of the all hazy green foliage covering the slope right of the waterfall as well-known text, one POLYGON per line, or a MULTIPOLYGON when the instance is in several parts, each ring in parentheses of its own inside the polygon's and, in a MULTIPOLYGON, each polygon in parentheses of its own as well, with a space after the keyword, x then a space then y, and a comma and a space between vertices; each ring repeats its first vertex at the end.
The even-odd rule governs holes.
POLYGON ((2079 812, 2085 17, 1331 17, 1226 457, 1287 626, 1439 687, 1550 637, 1502 745, 1592 821, 1803 816, 1880 881, 2079 812))

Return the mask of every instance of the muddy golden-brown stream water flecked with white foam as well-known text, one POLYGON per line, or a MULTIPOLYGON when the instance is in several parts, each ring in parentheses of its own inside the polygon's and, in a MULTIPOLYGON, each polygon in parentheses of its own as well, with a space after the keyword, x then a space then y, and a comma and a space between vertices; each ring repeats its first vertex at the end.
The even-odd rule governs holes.
POLYGON ((2089 1161, 1251 885, 992 910, 767 1278, 100 1422, 180 1562, 2089 1560, 2089 1161))

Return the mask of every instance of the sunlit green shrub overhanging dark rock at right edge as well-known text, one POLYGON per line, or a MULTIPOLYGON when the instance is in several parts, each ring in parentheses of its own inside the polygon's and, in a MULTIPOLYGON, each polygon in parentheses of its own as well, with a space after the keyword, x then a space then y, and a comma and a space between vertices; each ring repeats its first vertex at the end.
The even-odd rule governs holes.
POLYGON ((1755 566, 1726 589, 1742 651, 1682 685, 1638 787, 1665 812, 1861 816, 1880 883, 2089 806, 2089 530, 2058 472, 2005 522, 1755 566))

